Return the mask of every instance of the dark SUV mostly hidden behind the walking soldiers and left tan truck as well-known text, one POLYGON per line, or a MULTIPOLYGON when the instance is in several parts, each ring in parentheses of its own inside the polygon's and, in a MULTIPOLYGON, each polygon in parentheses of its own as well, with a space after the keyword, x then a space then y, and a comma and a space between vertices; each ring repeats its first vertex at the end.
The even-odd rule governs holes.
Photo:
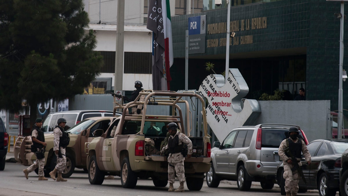
MULTIPOLYGON (((121 112, 116 112, 115 116, 121 116, 121 112)), ((46 133, 53 133, 54 127, 57 125, 57 120, 59 118, 66 119, 66 129, 73 127, 80 121, 98 116, 113 116, 112 111, 101 111, 101 110, 73 110, 66 112, 53 112, 48 114, 44 123, 42 124, 42 129, 46 133)))

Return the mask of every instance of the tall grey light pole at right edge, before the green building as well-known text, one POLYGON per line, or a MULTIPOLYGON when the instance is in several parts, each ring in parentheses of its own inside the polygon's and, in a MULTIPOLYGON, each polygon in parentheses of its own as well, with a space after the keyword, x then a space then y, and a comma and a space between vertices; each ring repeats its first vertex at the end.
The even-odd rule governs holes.
MULTIPOLYGON (((345 4, 341 1, 341 25, 340 25, 340 74, 338 89, 338 119, 337 119, 337 138, 342 138, 342 119, 343 119, 343 89, 342 89, 342 69, 343 69, 343 20, 345 15, 345 4)), ((344 136, 344 135, 343 135, 344 136)))

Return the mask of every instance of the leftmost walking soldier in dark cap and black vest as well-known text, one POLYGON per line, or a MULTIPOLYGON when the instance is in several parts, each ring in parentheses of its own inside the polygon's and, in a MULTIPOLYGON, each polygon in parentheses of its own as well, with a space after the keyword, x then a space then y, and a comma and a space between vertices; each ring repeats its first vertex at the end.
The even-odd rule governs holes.
POLYGON ((33 141, 33 145, 36 148, 36 161, 34 164, 29 166, 28 168, 24 169, 24 176, 26 179, 28 179, 28 174, 32 171, 34 171, 36 168, 39 167, 39 180, 48 180, 44 176, 44 166, 45 166, 45 156, 44 156, 44 149, 46 148, 47 143, 45 142, 45 136, 44 131, 42 131, 42 119, 37 118, 35 120, 36 124, 33 127, 31 131, 31 140, 33 141))

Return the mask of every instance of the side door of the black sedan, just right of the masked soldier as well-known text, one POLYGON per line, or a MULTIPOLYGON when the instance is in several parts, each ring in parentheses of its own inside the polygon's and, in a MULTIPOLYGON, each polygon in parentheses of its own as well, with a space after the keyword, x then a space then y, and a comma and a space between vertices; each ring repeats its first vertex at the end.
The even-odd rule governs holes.
MULTIPOLYGON (((314 141, 311 142, 307 145, 307 149, 310 153, 312 163, 310 165, 306 165, 305 168, 303 168, 303 174, 306 177, 307 180, 307 185, 308 186, 317 186, 317 179, 316 179, 316 171, 318 170, 319 162, 318 162, 318 157, 316 157, 316 152, 321 146, 322 142, 321 141, 314 141)), ((302 180, 300 182, 302 185, 305 185, 302 180)))

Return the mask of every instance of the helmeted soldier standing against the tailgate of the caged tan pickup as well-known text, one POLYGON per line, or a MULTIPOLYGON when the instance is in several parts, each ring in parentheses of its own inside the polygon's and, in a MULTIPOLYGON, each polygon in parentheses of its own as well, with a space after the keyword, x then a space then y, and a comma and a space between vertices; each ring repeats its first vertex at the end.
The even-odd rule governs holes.
POLYGON ((184 192, 184 182, 185 182, 185 169, 184 160, 182 155, 182 149, 184 144, 187 145, 187 158, 191 158, 192 154, 192 142, 183 133, 177 131, 177 125, 175 122, 171 122, 167 125, 168 133, 171 134, 168 138, 168 144, 163 147, 161 154, 163 154, 167 149, 169 149, 168 160, 168 191, 184 192), (174 172, 176 172, 177 178, 179 179, 180 186, 174 190, 173 183, 175 180, 174 172))

